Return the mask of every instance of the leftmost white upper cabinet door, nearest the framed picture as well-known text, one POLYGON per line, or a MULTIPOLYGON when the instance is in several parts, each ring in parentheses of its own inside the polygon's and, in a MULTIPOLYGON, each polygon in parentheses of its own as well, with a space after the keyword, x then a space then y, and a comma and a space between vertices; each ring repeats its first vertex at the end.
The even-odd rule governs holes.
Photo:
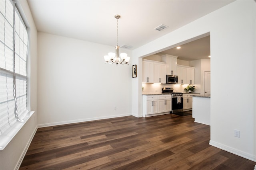
POLYGON ((142 82, 153 83, 153 62, 142 61, 142 82))

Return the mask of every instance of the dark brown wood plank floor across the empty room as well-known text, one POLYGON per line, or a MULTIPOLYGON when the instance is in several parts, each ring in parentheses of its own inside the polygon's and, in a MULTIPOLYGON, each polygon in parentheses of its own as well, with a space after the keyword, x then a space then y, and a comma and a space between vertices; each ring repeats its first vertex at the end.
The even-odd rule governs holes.
POLYGON ((209 145, 191 115, 104 119, 37 130, 20 169, 253 170, 256 162, 209 145))

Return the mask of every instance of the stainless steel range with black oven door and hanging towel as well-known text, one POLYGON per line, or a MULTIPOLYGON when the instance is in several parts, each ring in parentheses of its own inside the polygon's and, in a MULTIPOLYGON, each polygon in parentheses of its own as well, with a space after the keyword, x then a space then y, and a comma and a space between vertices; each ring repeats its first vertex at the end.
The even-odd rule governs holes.
POLYGON ((179 113, 183 111, 183 93, 173 92, 172 87, 162 88, 162 93, 172 94, 171 113, 179 113))

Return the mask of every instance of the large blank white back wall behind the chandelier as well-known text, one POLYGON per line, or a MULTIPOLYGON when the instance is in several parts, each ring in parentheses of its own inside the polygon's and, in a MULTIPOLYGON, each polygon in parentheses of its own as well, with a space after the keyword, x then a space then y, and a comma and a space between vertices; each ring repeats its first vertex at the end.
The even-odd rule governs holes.
POLYGON ((104 64, 111 51, 114 46, 38 33, 39 127, 132 115, 132 64, 104 64))

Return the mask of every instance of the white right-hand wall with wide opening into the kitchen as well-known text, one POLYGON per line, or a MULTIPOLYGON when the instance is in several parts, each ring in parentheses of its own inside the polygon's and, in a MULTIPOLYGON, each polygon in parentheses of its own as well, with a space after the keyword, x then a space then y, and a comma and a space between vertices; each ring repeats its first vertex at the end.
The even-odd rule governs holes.
MULTIPOLYGON (((206 36, 210 32, 210 145, 254 161, 256 161, 255 25, 256 3, 253 0, 235 1, 133 51, 133 59, 139 63, 139 57, 164 51, 177 43, 186 42, 199 35, 206 36), (237 77, 243 77, 243 83, 237 82, 237 77), (234 129, 240 130, 240 138, 234 137, 234 129)), ((141 85, 141 82, 133 83, 141 85)), ((138 93, 141 93, 140 90, 134 90, 133 97, 138 93)), ((138 101, 141 98, 138 96, 138 101)), ((138 111, 134 114, 141 115, 140 104, 133 107, 136 107, 133 111, 138 111)))

